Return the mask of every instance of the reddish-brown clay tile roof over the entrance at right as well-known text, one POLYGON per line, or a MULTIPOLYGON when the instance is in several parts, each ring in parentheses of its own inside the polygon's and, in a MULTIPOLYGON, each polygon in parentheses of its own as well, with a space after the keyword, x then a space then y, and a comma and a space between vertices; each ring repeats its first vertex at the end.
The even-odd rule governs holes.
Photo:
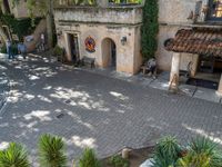
POLYGON ((181 29, 175 38, 165 41, 164 47, 174 52, 222 57, 222 29, 181 29))

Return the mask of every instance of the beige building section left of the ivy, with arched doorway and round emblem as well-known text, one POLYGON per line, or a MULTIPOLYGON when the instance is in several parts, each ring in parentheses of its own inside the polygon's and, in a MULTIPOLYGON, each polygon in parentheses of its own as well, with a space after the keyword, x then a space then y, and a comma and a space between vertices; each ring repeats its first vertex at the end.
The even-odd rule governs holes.
POLYGON ((54 9, 58 43, 70 61, 94 58, 95 65, 137 73, 140 53, 142 6, 118 6, 98 0, 98 6, 67 6, 54 9))

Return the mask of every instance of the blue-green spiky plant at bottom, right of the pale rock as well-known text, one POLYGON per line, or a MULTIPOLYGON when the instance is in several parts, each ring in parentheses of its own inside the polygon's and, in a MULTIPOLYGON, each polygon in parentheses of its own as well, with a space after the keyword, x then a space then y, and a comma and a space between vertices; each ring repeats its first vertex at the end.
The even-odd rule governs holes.
POLYGON ((181 153, 180 145, 174 137, 165 137, 161 139, 154 149, 153 167, 174 166, 181 153))

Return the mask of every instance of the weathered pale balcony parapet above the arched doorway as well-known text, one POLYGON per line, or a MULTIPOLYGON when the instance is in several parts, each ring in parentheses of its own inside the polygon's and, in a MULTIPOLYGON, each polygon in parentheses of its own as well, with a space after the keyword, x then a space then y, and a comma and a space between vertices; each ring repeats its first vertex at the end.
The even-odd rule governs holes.
POLYGON ((57 6, 54 19, 62 22, 139 24, 142 22, 142 6, 57 6))

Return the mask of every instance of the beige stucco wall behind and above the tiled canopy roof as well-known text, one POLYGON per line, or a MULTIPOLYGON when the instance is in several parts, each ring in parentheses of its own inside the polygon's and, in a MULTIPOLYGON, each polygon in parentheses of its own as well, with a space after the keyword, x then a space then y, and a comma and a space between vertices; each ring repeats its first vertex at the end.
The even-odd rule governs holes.
MULTIPOLYGON (((164 41, 169 38, 173 38, 179 29, 192 27, 195 19, 188 19, 191 12, 193 12, 193 14, 199 14, 195 20, 196 22, 203 22, 205 16, 203 16, 201 11, 205 4, 208 4, 208 0, 159 0, 160 32, 157 58, 160 69, 171 69, 172 52, 164 49, 164 41)), ((182 53, 181 69, 185 69, 188 61, 192 61, 192 59, 191 55, 182 53)))

